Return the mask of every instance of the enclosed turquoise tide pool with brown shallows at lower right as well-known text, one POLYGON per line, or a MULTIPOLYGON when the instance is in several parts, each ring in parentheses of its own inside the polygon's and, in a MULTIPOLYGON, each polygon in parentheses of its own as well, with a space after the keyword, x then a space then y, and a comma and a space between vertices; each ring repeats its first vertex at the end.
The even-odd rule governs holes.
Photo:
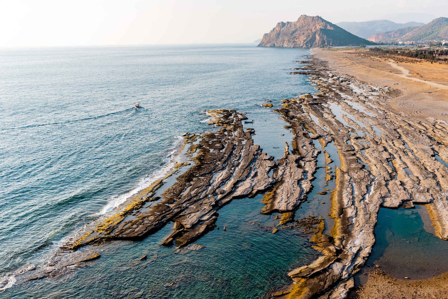
MULTIPOLYGON (((434 235, 424 205, 380 208, 375 246, 364 271, 379 265, 393 277, 425 279, 448 272, 448 242, 434 235)), ((364 281, 366 277, 358 277, 364 281)))

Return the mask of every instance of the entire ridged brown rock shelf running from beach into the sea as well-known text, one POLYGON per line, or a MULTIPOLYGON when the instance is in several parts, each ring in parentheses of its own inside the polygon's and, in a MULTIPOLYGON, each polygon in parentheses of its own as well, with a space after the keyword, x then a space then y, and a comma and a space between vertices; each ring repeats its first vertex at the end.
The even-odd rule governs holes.
POLYGON ((64 274, 69 266, 100 258, 99 245, 141 240, 170 223, 172 231, 162 244, 185 247, 215 229, 221 207, 259 193, 265 205, 260 212, 279 214, 273 233, 303 227, 322 254, 290 271, 292 284, 271 293, 274 298, 345 298, 375 244, 379 208, 424 204, 435 234, 448 239, 448 123, 391 111, 388 103, 398 93, 392 87, 337 74, 316 58, 297 63, 302 67, 296 73, 313 74, 310 80, 319 92, 283 100, 275 110, 294 135, 282 158, 274 161, 254 144, 254 130, 243 128, 243 113, 209 111, 209 124, 218 130, 186 134, 180 153, 185 161, 85 225, 50 263, 20 269, 14 279, 64 274), (334 225, 328 234, 323 218, 295 221, 313 189, 319 155, 325 157, 325 181, 336 178, 330 207, 334 225), (339 164, 330 167, 335 160, 339 164))

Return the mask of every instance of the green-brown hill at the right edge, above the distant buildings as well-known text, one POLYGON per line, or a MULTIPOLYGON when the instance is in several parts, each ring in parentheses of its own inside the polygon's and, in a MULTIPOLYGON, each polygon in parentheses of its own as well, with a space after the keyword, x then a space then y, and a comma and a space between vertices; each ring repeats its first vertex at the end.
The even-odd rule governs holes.
POLYGON ((373 42, 432 41, 448 39, 448 18, 439 17, 420 27, 402 28, 368 38, 373 42))

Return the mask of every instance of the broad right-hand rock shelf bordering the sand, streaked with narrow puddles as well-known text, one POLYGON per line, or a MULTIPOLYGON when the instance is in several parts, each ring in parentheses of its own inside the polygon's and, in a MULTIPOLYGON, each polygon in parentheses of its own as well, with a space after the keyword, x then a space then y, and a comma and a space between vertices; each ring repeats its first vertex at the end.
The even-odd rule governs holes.
MULTIPOLYGON (((291 271, 294 283, 273 293, 275 298, 345 298, 353 275, 370 256, 380 207, 425 204, 435 234, 448 238, 447 123, 394 113, 387 108, 394 95, 391 87, 332 73, 323 61, 312 65, 319 75, 311 81, 320 92, 284 101, 277 111, 292 126, 300 123, 313 137, 320 136, 324 151, 330 142, 337 147, 340 167, 331 192, 334 226, 331 235, 320 230, 311 238, 323 256, 291 271)), ((296 135, 295 141, 307 138, 296 135)))

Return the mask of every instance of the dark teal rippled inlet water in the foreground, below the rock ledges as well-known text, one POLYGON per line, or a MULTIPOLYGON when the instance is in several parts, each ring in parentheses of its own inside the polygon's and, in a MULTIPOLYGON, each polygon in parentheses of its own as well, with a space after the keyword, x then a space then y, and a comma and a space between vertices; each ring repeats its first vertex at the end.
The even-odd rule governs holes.
POLYGON ((235 199, 221 208, 216 223, 221 229, 197 241, 205 246, 201 250, 174 253, 173 247, 159 246, 171 231, 167 225, 142 242, 113 244, 98 263, 65 277, 11 290, 16 298, 46 297, 49 288, 50 298, 257 298, 289 283, 289 269, 316 257, 297 231, 272 234, 278 220, 259 213, 260 200, 261 195, 235 199), (147 260, 138 261, 145 254, 147 260))

